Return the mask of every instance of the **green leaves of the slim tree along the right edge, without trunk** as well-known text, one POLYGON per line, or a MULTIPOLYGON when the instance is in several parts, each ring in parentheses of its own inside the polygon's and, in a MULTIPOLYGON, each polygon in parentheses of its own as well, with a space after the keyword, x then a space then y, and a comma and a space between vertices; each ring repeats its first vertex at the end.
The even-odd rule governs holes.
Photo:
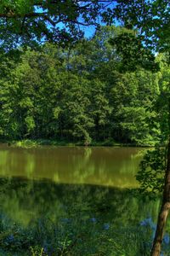
POLYGON ((164 177, 167 168, 167 150, 166 145, 169 137, 169 90, 170 73, 167 54, 158 55, 157 61, 160 61, 160 72, 158 74, 158 85, 160 94, 155 102, 155 111, 157 121, 160 127, 160 143, 154 150, 149 150, 144 154, 141 161, 140 170, 137 179, 140 183, 142 192, 160 193, 164 187, 164 177))

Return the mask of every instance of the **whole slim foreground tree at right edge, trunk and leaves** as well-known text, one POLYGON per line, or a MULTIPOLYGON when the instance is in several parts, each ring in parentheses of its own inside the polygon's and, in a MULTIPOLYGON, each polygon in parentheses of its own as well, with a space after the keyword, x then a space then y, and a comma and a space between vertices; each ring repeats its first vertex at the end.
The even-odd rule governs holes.
POLYGON ((156 237, 151 255, 159 255, 161 252, 161 241, 165 230, 167 214, 169 211, 169 65, 166 55, 158 55, 161 61, 161 73, 159 74, 160 96, 156 102, 157 118, 160 119, 160 146, 155 150, 147 152, 141 163, 141 169, 137 178, 141 183, 142 190, 151 190, 154 193, 163 191, 161 210, 158 218, 156 237), (165 147, 162 148, 162 145, 165 147), (166 173, 165 173, 166 171, 166 173))

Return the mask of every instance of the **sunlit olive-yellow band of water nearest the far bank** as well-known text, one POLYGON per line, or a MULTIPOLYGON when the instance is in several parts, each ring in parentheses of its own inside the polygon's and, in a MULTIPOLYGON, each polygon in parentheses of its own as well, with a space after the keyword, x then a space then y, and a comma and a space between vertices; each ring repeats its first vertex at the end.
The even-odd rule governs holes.
POLYGON ((48 178, 55 183, 138 186, 135 174, 144 149, 9 148, 0 146, 0 176, 48 178))

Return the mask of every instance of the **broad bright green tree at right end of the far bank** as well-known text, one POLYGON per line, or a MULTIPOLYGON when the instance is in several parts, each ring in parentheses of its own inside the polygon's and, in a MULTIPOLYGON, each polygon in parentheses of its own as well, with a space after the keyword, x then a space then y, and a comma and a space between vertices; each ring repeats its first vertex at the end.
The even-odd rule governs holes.
POLYGON ((156 143, 160 129, 153 106, 158 95, 156 74, 143 69, 133 73, 113 73, 111 125, 119 140, 138 145, 156 143))

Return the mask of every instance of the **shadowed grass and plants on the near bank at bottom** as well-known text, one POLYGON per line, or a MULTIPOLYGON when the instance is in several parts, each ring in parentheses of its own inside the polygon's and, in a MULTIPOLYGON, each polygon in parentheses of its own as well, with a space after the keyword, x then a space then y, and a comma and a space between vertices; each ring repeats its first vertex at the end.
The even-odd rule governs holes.
POLYGON ((0 218, 2 256, 147 256, 151 230, 116 227, 96 218, 39 219, 29 228, 0 218))

